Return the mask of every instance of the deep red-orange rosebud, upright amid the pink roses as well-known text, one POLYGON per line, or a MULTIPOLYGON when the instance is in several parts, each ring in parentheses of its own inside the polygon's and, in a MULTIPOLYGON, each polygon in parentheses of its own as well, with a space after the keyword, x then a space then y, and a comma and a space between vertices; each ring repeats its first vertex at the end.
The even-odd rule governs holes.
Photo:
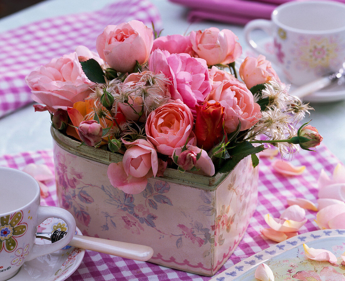
POLYGON ((204 103, 196 105, 196 120, 194 133, 197 139, 197 146, 209 151, 223 140, 224 129, 224 107, 219 102, 204 103))

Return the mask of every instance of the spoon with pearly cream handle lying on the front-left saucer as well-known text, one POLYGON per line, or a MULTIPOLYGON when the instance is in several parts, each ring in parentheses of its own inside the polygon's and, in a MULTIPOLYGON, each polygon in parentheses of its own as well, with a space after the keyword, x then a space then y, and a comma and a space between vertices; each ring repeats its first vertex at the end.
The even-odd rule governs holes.
MULTIPOLYGON (((66 234, 67 232, 58 230, 53 231, 52 233, 38 232, 36 234, 36 238, 43 238, 50 240, 51 243, 54 243, 59 241, 66 234)), ((149 246, 82 236, 78 234, 74 235, 68 245, 81 249, 125 257, 127 259, 136 261, 147 261, 151 259, 153 255, 153 249, 149 246)))

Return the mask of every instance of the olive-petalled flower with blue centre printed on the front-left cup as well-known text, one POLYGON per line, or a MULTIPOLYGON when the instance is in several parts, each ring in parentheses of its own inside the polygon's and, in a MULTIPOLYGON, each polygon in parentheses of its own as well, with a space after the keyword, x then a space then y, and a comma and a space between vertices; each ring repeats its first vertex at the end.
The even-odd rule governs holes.
POLYGON ((0 217, 0 252, 13 252, 17 248, 17 237, 22 236, 28 225, 22 223, 23 212, 0 217))

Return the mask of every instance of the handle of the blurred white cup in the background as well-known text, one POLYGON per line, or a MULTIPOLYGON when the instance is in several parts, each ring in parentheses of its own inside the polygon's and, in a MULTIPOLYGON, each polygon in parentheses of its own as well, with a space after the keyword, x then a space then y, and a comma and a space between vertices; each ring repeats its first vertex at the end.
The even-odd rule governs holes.
POLYGON ((249 21, 244 27, 244 36, 245 40, 250 48, 252 48, 256 53, 262 54, 266 57, 267 60, 273 63, 277 63, 277 59, 274 55, 268 53, 264 48, 260 47, 251 37, 251 33, 254 30, 262 30, 266 32, 269 36, 272 37, 273 30, 272 21, 266 19, 255 19, 249 21))

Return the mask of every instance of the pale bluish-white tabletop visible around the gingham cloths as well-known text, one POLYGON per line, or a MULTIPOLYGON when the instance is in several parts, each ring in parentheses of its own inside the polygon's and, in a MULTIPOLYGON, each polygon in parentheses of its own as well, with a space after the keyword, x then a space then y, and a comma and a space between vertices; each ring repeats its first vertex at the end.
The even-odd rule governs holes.
MULTIPOLYGON (((48 17, 98 10, 102 5, 115 0, 46 0, 13 15, 0 19, 0 32, 29 24, 48 17)), ((186 31, 205 29, 211 26, 232 30, 239 38, 243 49, 246 43, 243 26, 217 22, 190 24, 186 20, 187 10, 168 0, 151 0, 158 8, 164 30, 162 35, 184 34, 186 31)), ((280 77, 283 80, 283 77, 280 77)), ((345 86, 344 86, 345 99, 345 86)), ((345 102, 311 103, 311 125, 323 136, 323 143, 345 163, 345 102)), ((308 119, 305 119, 309 121, 308 119)), ((26 106, 0 119, 0 155, 52 148, 50 118, 47 112, 34 112, 32 105, 26 106)))

